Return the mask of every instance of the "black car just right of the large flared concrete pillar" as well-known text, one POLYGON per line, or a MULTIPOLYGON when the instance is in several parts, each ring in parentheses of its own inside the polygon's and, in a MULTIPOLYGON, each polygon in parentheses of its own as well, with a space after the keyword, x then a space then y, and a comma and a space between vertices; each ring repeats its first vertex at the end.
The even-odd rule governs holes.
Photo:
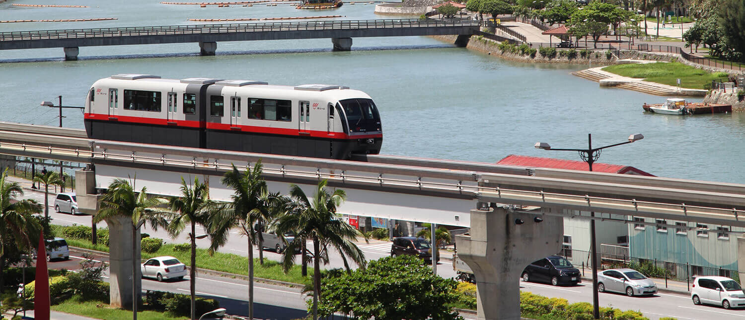
POLYGON ((582 282, 580 270, 571 262, 559 255, 551 255, 535 261, 522 270, 522 281, 548 282, 554 286, 559 284, 575 285, 582 282))

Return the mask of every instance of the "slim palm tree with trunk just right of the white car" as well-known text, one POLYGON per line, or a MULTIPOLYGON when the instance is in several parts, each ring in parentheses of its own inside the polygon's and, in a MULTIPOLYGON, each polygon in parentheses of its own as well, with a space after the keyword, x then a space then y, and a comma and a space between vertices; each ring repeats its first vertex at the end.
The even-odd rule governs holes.
POLYGON ((187 224, 191 225, 191 232, 188 234, 191 241, 191 268, 189 269, 189 290, 191 291, 191 320, 197 319, 197 310, 195 304, 194 291, 197 281, 197 233, 196 225, 207 226, 210 212, 206 208, 211 203, 208 199, 209 187, 199 182, 198 177, 194 177, 194 185, 186 184, 186 180, 181 177, 181 196, 172 197, 168 200, 168 207, 176 215, 168 223, 168 234, 171 238, 176 238, 183 232, 187 224))

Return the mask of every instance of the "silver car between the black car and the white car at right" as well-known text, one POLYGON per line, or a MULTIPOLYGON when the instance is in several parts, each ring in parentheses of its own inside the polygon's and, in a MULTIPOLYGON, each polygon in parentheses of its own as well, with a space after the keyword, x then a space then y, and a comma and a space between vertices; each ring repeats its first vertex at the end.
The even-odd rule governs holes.
POLYGON ((657 293, 654 281, 633 269, 609 269, 597 272, 597 291, 612 291, 634 295, 653 295, 657 293))

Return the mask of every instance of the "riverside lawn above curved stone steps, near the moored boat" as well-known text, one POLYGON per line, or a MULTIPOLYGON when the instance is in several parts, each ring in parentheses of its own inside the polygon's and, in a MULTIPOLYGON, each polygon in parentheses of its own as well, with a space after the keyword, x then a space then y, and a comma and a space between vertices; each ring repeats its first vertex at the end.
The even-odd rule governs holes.
POLYGON ((683 65, 680 62, 655 62, 635 65, 611 65, 603 68, 621 76, 643 78, 644 81, 657 82, 665 85, 677 85, 680 79, 682 88, 703 89, 703 85, 711 80, 726 76, 724 72, 711 73, 701 69, 683 65))

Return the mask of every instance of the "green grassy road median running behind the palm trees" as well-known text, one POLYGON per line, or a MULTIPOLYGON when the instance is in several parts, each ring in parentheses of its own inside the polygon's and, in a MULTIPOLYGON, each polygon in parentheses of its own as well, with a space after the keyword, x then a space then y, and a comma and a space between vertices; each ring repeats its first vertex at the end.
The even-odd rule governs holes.
MULTIPOLYGON (((51 225, 51 229, 55 234, 62 234, 62 226, 51 225)), ((84 239, 66 238, 67 244, 70 246, 77 246, 84 249, 93 249, 98 251, 109 252, 109 247, 98 244, 93 246, 91 241, 84 239)), ((257 278, 267 278, 272 280, 287 281, 296 284, 310 283, 313 274, 313 266, 308 267, 308 277, 300 275, 300 266, 295 264, 292 266, 290 272, 285 274, 282 272, 282 264, 277 261, 270 261, 266 258, 266 255, 273 255, 274 252, 264 253, 264 265, 259 264, 259 259, 254 258, 253 262, 253 275, 257 278)), ((142 260, 157 257, 160 255, 171 255, 178 258, 181 262, 187 266, 191 261, 190 251, 174 251, 173 244, 164 244, 158 252, 147 253, 142 252, 142 260)), ((296 256, 297 262, 299 263, 300 256, 296 256)), ((197 249, 197 267, 216 270, 222 272, 235 273, 238 275, 248 275, 248 258, 241 255, 234 255, 232 253, 215 252, 214 255, 209 255, 206 249, 197 249)))

